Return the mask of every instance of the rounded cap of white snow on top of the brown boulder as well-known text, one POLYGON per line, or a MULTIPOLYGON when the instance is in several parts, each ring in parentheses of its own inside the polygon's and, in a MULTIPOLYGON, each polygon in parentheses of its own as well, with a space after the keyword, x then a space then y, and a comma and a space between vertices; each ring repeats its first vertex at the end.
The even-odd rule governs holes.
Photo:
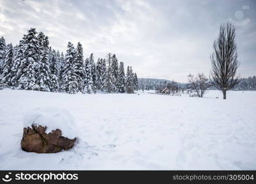
POLYGON ((74 118, 65 109, 50 107, 30 110, 23 118, 23 126, 31 127, 32 124, 47 126, 47 133, 60 129, 64 137, 72 139, 78 136, 74 118))

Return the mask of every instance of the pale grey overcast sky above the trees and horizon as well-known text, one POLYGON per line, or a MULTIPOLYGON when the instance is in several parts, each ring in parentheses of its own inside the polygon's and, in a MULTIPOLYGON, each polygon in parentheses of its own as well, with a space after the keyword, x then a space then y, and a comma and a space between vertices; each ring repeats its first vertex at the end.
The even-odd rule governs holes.
POLYGON ((65 52, 81 42, 84 57, 116 53, 140 78, 187 82, 209 74, 221 23, 236 25, 239 74, 256 74, 256 1, 0 0, 0 36, 18 44, 31 27, 65 52), (243 7, 246 6, 246 7, 243 7))

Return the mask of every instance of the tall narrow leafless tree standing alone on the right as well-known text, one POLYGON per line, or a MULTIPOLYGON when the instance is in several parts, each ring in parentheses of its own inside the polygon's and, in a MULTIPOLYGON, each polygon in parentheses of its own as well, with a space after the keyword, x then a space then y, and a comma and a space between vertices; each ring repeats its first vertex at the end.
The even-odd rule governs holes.
POLYGON ((210 56, 210 81, 218 90, 222 90, 223 99, 226 99, 226 91, 239 83, 239 77, 236 76, 239 61, 235 37, 236 29, 231 23, 221 25, 218 39, 214 41, 214 52, 210 56))

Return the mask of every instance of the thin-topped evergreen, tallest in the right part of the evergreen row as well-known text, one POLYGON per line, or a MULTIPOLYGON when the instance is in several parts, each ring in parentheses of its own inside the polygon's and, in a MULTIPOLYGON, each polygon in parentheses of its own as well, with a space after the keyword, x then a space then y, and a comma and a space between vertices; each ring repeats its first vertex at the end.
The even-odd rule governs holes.
POLYGON ((111 53, 108 53, 108 55, 106 56, 106 63, 107 63, 106 78, 103 85, 103 90, 106 93, 113 93, 115 90, 115 86, 113 83, 113 76, 112 76, 113 73, 112 73, 112 67, 111 67, 111 63, 112 63, 111 53))

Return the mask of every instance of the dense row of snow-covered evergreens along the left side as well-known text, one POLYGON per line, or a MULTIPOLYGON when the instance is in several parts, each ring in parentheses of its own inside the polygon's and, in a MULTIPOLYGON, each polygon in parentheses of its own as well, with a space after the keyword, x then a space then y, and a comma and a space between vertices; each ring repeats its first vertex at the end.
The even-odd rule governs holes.
POLYGON ((115 54, 84 59, 82 44, 68 42, 65 55, 49 47, 48 37, 28 30, 15 47, 0 38, 0 88, 81 93, 134 93, 137 74, 115 54))

